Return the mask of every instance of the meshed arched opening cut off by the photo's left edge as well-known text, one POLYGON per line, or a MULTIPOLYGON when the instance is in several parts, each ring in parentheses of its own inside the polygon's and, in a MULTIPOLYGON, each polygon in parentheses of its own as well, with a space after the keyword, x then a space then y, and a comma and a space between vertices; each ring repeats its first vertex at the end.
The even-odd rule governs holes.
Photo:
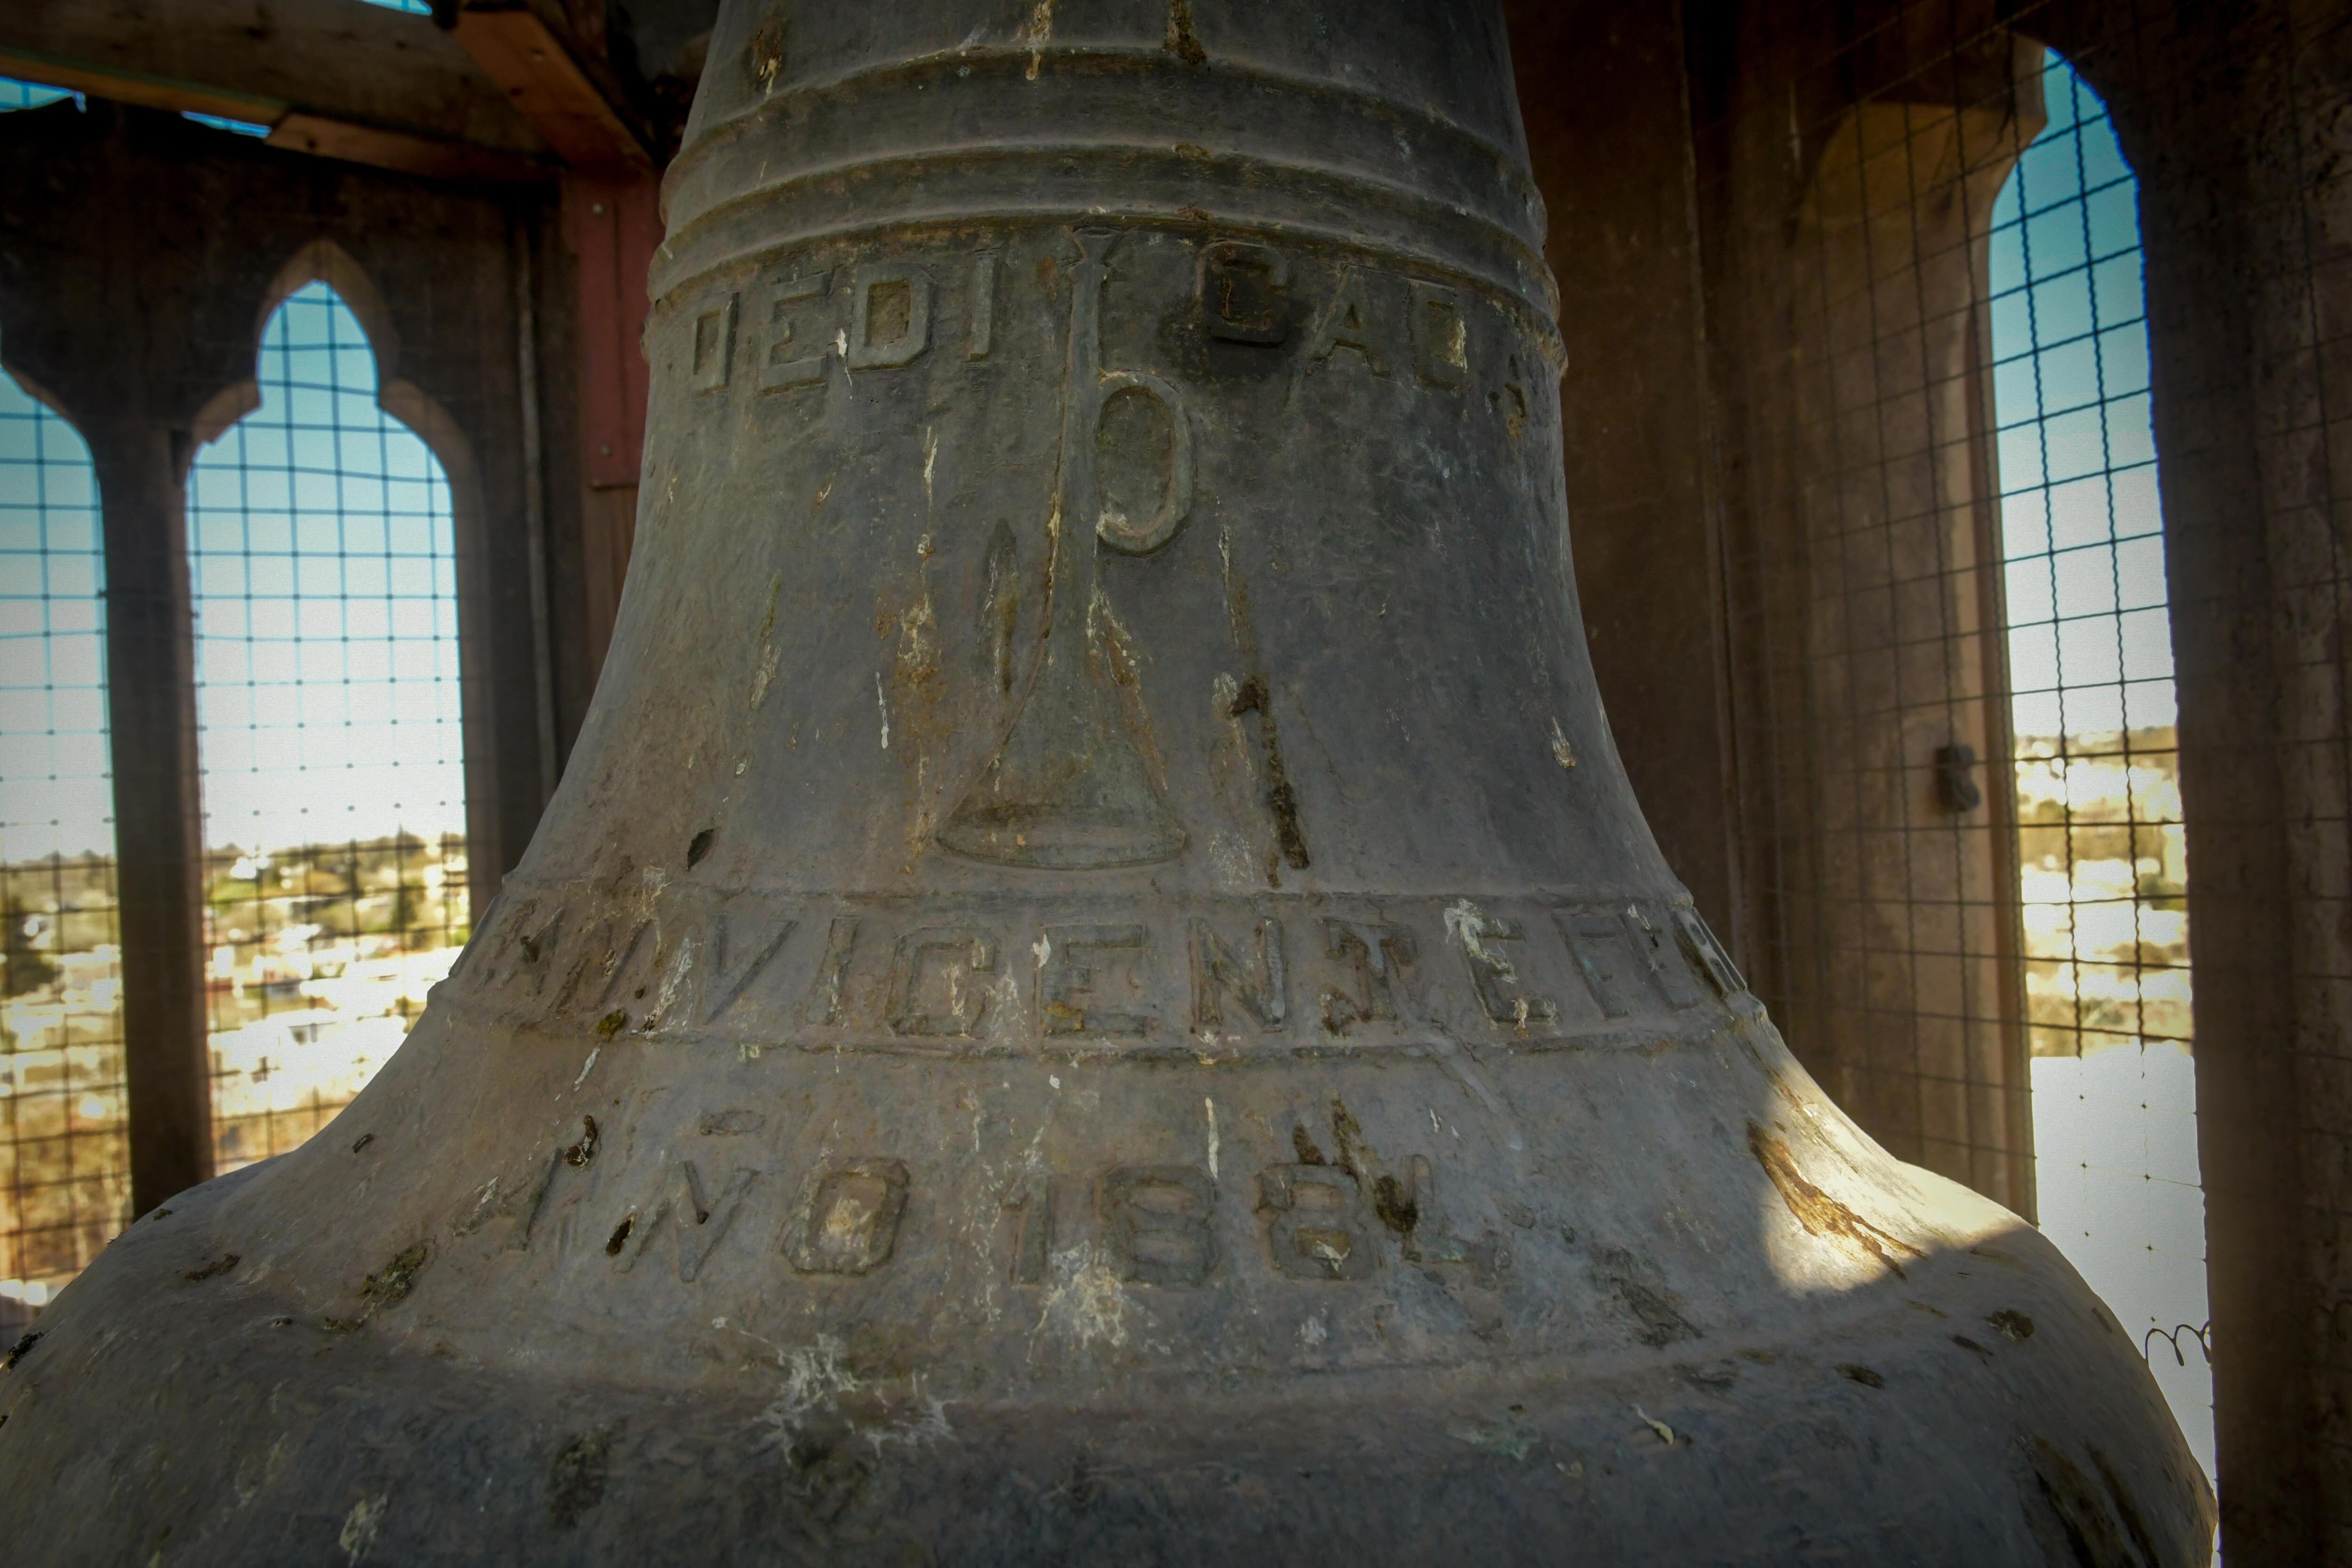
POLYGON ((129 1222, 89 449, 0 376, 0 1326, 129 1222))

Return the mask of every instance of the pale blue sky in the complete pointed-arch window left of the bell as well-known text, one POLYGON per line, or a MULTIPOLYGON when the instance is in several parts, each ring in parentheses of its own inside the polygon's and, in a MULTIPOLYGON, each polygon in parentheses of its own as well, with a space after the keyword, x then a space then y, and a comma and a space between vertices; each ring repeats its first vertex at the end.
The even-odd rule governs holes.
POLYGON ((449 482, 313 282, 188 475, 207 846, 466 830, 449 482))

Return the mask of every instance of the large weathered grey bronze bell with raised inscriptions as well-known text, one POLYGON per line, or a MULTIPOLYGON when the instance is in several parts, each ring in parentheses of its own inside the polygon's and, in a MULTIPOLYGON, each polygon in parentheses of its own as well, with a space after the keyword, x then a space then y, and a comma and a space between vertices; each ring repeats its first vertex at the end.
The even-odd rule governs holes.
POLYGON ((2206 1561, 1635 806, 1496 2, 729 0, 666 216, 562 788, 14 1352, 12 1561, 2206 1561))

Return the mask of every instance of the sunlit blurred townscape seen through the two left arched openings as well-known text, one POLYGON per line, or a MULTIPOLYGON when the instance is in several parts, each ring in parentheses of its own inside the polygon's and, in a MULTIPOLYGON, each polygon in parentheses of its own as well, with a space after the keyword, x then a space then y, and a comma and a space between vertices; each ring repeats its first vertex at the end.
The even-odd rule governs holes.
MULTIPOLYGON (((296 1147, 367 1084, 466 945, 466 839, 209 856, 219 1171, 296 1147)), ((42 1307, 129 1215, 113 860, 0 867, 0 1321, 42 1307)))

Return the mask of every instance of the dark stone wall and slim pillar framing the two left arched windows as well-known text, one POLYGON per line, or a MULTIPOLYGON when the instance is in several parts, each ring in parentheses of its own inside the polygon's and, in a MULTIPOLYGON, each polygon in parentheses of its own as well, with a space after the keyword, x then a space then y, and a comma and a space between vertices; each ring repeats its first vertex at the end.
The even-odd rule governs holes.
POLYGON ((541 689, 564 677, 564 661, 539 668, 562 649, 532 604, 515 336, 513 228, 546 207, 536 190, 383 174, 101 99, 0 115, 0 343, 89 442, 106 520, 139 1211, 212 1173, 188 463, 254 407, 268 313, 327 280, 367 327, 379 404, 449 480, 480 912, 539 820, 541 689))

